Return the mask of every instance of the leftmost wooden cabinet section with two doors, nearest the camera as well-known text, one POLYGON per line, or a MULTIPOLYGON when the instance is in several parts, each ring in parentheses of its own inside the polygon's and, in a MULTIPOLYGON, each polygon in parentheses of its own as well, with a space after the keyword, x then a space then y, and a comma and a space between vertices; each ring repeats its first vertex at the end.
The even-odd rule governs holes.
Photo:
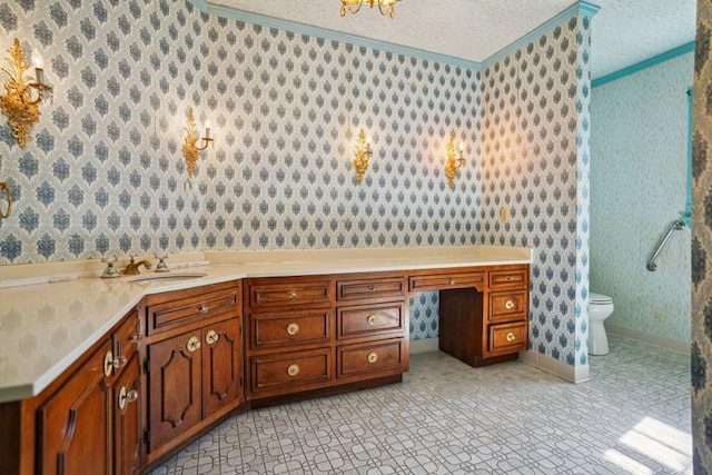
POLYGON ((0 447, 7 473, 138 473, 139 329, 134 309, 40 395, 0 405, 20 426, 0 447))

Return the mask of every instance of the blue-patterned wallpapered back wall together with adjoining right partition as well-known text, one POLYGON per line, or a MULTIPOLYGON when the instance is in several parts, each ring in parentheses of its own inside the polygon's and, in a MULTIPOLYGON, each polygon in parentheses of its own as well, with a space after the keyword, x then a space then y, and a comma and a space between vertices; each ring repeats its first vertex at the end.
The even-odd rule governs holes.
MULTIPOLYGON (((0 221, 1 265, 158 249, 532 246, 532 348, 586 363, 589 19, 484 76, 208 17, 185 0, 6 0, 0 28, 3 49, 16 36, 41 49, 56 88, 26 149, 0 126, 0 177, 17 199, 0 221), (188 107, 216 139, 191 180, 180 155, 188 107), (375 154, 358 186, 360 127, 375 154), (451 136, 467 158, 453 190, 451 136)), ((437 294, 412 310, 412 337, 436 336, 437 294)))

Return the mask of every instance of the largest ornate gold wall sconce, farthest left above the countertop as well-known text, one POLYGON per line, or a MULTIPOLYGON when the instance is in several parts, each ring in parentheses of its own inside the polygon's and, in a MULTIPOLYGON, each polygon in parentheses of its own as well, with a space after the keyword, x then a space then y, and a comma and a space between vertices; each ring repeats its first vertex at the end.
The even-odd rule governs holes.
POLYGON ((44 83, 44 70, 42 69, 42 58, 32 52, 34 65, 34 82, 32 77, 26 75, 29 69, 24 53, 20 48, 20 40, 14 39, 12 48, 8 50, 9 69, 2 69, 10 78, 4 83, 6 93, 0 96, 0 110, 8 116, 8 123, 12 127, 12 137, 18 139, 20 148, 31 139, 30 131, 40 119, 39 103, 44 99, 44 95, 52 91, 51 86, 44 83))

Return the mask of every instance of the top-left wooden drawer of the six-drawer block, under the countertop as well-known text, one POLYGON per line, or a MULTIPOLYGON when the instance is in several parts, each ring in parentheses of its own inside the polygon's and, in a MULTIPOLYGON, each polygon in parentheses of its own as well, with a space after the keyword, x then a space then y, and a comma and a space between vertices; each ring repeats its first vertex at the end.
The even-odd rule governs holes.
POLYGON ((249 285, 251 308, 279 305, 315 305, 332 303, 329 280, 295 281, 284 284, 249 285))

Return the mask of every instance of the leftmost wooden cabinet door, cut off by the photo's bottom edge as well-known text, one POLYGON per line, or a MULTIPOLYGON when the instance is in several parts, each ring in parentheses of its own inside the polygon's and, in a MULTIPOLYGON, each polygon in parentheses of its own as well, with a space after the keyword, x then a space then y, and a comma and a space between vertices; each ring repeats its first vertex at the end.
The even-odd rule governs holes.
POLYGON ((37 473, 110 473, 111 388, 103 369, 110 349, 107 340, 39 407, 37 473))

